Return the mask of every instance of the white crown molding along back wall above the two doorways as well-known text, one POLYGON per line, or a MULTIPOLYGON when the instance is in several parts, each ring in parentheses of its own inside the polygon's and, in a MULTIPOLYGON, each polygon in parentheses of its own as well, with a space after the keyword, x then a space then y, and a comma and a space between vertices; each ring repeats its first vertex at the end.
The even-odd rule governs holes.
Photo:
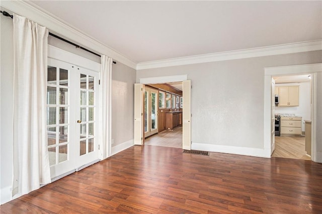
POLYGON ((322 40, 138 63, 136 70, 322 50, 322 40))

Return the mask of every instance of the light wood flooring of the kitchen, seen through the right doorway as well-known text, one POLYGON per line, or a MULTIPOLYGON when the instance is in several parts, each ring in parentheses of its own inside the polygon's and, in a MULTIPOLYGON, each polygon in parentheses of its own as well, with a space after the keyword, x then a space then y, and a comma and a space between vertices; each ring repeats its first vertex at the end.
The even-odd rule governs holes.
POLYGON ((275 136, 275 150, 272 157, 310 160, 305 152, 305 137, 275 136))

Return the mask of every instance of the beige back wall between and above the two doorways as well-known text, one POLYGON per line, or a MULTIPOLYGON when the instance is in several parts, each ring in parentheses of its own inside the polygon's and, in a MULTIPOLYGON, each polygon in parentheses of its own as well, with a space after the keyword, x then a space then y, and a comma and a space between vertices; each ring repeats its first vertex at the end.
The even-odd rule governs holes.
MULTIPOLYGON (((264 68, 320 63, 322 52, 257 57, 137 71, 139 78, 188 74, 192 148, 264 148, 264 68), (195 144, 195 145, 194 145, 195 144), (203 145, 204 146, 204 145, 203 145)), ((318 82, 321 85, 322 82, 318 82)), ((319 86, 320 87, 320 86, 319 86)), ((320 102, 320 101, 319 101, 320 102)), ((322 109, 321 103, 319 103, 322 109)))

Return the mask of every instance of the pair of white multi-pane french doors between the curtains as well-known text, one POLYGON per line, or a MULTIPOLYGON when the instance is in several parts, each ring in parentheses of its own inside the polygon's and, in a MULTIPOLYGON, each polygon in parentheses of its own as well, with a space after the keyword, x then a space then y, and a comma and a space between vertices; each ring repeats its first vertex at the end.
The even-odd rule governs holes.
POLYGON ((99 73, 48 59, 47 131, 51 177, 98 158, 99 73))

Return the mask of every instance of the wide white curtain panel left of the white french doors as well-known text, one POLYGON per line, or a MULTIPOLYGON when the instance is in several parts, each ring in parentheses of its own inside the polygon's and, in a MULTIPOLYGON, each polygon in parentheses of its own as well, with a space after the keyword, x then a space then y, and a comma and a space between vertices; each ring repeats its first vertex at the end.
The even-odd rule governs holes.
POLYGON ((46 81, 48 30, 14 14, 13 195, 50 182, 46 81))

